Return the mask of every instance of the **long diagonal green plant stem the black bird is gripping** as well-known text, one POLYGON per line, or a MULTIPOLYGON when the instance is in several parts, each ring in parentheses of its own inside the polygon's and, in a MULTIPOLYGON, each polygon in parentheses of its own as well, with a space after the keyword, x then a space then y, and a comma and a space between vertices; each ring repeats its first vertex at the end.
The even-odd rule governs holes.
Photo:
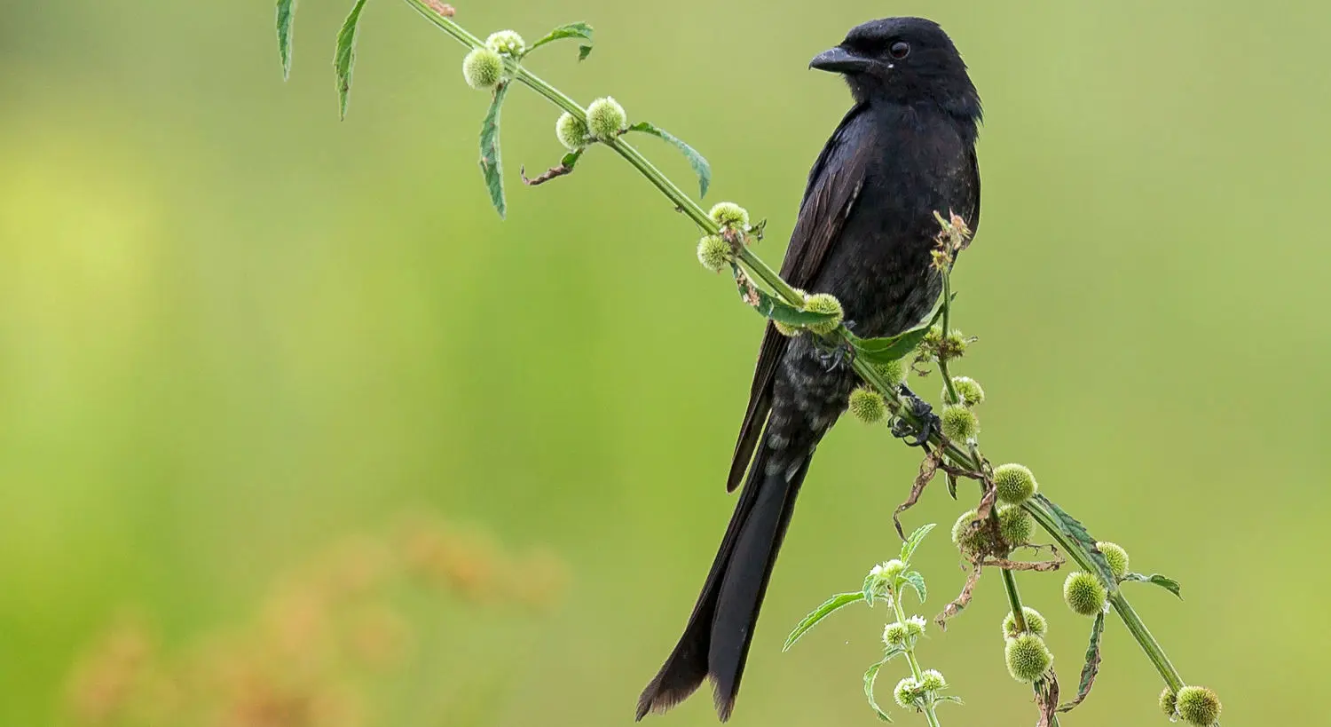
MULTIPOLYGON (((469 48, 480 48, 484 45, 480 39, 467 32, 465 28, 454 23, 451 19, 439 15, 431 7, 430 3, 426 3, 425 0, 403 0, 403 1, 413 9, 419 12, 426 20, 433 23, 435 27, 453 36, 454 40, 457 40, 458 43, 469 48)), ((508 60, 506 63, 508 64, 510 71, 514 73, 515 80, 531 88, 540 96, 544 96, 554 105, 586 121, 587 112, 576 101, 574 101, 567 95, 564 95, 559 89, 554 88, 552 85, 538 77, 535 73, 531 73, 522 65, 516 64, 515 61, 508 60)), ((663 174, 659 169, 656 169, 656 166, 651 164, 642 154, 642 152, 639 152, 636 148, 623 141, 622 138, 616 138, 607 142, 607 146, 618 152, 622 157, 624 157, 626 161, 634 165, 634 168, 638 169, 639 173, 642 173, 650 182, 652 182, 652 185, 655 185, 656 189, 662 192, 662 194, 664 194, 671 202, 673 202, 677 209, 683 210, 684 214, 687 214, 693 222, 696 222, 700 228, 703 228, 704 232, 707 232, 708 234, 716 234, 720 232, 720 226, 711 217, 707 216, 707 212, 703 210, 703 208, 699 206, 697 202, 695 202, 688 194, 685 194, 684 190, 681 190, 675 182, 672 182, 668 177, 666 177, 666 174, 663 174)), ((803 305, 804 302, 803 297, 795 290, 795 288, 787 284, 776 270, 768 266, 748 248, 740 249, 737 257, 739 261, 745 266, 745 269, 748 269, 755 277, 757 277, 760 281, 768 285, 787 304, 803 305)), ((945 294, 948 294, 944 308, 944 334, 946 334, 948 330, 946 310, 952 302, 950 282, 948 281, 946 276, 944 277, 944 289, 945 294)), ((843 342, 848 344, 849 340, 845 337, 845 333, 847 333, 845 329, 841 328, 837 332, 835 332, 835 336, 839 337, 843 342)), ((905 419, 906 422, 914 426, 920 426, 922 423, 920 418, 916 417, 905 405, 901 397, 901 391, 882 377, 877 366, 866 362, 860 357, 856 357, 852 361, 852 366, 855 367, 856 373, 858 373, 860 377, 864 378, 865 382, 868 382, 869 385, 872 385, 874 389, 877 389, 880 393, 884 394, 888 407, 892 410, 894 415, 905 419)), ((950 391, 952 378, 946 377, 946 374, 945 378, 948 381, 948 387, 950 391)), ((956 395, 954 391, 950 391, 950 395, 956 395)), ((933 446, 940 447, 942 453, 953 463, 969 469, 972 471, 981 471, 984 458, 980 457, 977 449, 970 449, 968 451, 968 449, 964 449, 956 442, 946 439, 938 433, 933 433, 929 438, 929 442, 933 446)), ((1045 531, 1047 531, 1049 535, 1054 538, 1058 542, 1058 545, 1074 561, 1078 562, 1078 565, 1081 565, 1089 573, 1097 573, 1097 570, 1090 566, 1090 554, 1086 553, 1079 543, 1069 541, 1062 535, 1062 531, 1058 529, 1057 522, 1054 521, 1053 515, 1049 511, 1046 511, 1038 503, 1032 503, 1032 502, 1028 502, 1025 507, 1036 518, 1036 522, 1038 522, 1040 526, 1045 529, 1045 531)), ((1157 642, 1155 636, 1153 636, 1151 632, 1146 628, 1146 624, 1142 623, 1141 618, 1138 618, 1137 612, 1131 608, 1131 605, 1127 602, 1127 599, 1121 593, 1118 593, 1117 585, 1107 583, 1106 586, 1110 590, 1110 603, 1113 603, 1115 612, 1118 612, 1119 618, 1127 626, 1127 630, 1133 634, 1133 638, 1137 639, 1138 644, 1141 644, 1147 658, 1151 660, 1151 663, 1155 664, 1155 668, 1165 678, 1165 682, 1175 690, 1181 688, 1183 686, 1183 680, 1178 675, 1178 671, 1174 668, 1174 666, 1170 663, 1169 658, 1165 656, 1165 650, 1159 646, 1159 642, 1157 642)), ((1018 618, 1020 618, 1020 611, 1018 611, 1018 618)), ((936 719, 937 718, 934 718, 934 720, 936 719)), ((934 722, 934 724, 937 724, 937 722, 934 722)))

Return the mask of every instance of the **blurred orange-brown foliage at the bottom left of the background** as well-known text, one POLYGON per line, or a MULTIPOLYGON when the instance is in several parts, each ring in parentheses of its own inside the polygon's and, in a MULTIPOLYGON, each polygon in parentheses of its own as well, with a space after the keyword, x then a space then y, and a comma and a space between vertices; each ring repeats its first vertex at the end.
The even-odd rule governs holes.
POLYGON ((510 557, 475 533, 407 521, 327 549, 253 623, 178 654, 122 616, 76 663, 68 712, 88 727, 488 724, 508 668, 467 659, 455 639, 476 608, 522 630, 562 585, 548 553, 510 557))

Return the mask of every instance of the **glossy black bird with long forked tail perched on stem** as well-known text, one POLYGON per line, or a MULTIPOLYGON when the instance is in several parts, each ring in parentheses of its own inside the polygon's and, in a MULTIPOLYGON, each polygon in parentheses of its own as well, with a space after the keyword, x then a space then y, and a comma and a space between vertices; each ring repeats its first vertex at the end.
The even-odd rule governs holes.
MULTIPOLYGON (((836 296, 858 336, 893 336, 917 325, 941 292, 930 265, 934 212, 954 212, 972 230, 980 222, 980 96, 948 35, 920 17, 857 25, 809 67, 841 73, 855 105, 809 172, 781 276, 836 296)), ((717 715, 729 718, 795 498, 856 383, 849 366, 828 366, 812 334, 787 338, 768 325, 727 489, 745 471, 748 481, 638 719, 677 704, 705 678, 717 715)))

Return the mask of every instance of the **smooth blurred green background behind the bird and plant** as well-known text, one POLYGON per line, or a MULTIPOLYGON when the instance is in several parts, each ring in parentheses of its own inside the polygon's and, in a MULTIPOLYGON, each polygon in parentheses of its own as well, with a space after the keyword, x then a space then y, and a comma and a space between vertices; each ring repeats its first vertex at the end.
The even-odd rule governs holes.
MULTIPOLYGON (((81 719, 71 674, 125 610, 186 652, 329 543, 403 513, 546 547, 568 579, 539 616, 446 607, 430 678, 500 675, 482 708, 365 723, 627 724, 688 615, 733 502, 759 320, 604 150, 518 184, 520 164, 559 154, 555 111, 526 91, 506 107, 500 222, 475 162, 486 97, 405 4, 366 9, 338 122, 329 61, 349 5, 302 4, 284 84, 272 3, 5 3, 0 724, 81 719)), ((956 282, 958 325, 981 337, 960 370, 989 391, 985 450, 1032 466, 1135 570, 1183 582, 1183 603, 1146 586, 1135 601, 1226 724, 1322 719, 1331 11, 512 0, 462 3, 458 20, 528 39, 591 21, 584 64, 556 45, 531 65, 703 150, 709 200, 768 217, 776 264, 848 105, 808 59, 885 15, 941 21, 985 100, 984 224, 956 282)), ((691 184, 668 148, 642 148, 691 184)), ((779 647, 894 551, 917 455, 849 422, 824 442, 735 723, 874 722, 860 675, 881 611, 779 647)), ((960 510, 938 489, 908 522, 960 510)), ((945 541, 922 550, 926 615, 962 582, 945 541)), ((1070 691, 1086 623, 1059 583, 1022 578, 1070 691)), ((925 642, 966 699, 945 723, 1034 722, 1002 667, 1005 612, 985 578, 925 642)), ((1063 723, 1163 723, 1159 679, 1117 622, 1105 656, 1063 723)), ((655 718, 713 720, 707 695, 655 718)), ((262 722, 280 723, 294 722, 262 722)))

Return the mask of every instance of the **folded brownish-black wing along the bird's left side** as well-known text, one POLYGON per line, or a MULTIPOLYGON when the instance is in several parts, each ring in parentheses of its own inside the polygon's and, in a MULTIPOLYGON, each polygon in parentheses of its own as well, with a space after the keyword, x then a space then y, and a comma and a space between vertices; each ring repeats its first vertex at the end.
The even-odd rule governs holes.
MULTIPOLYGON (((815 280, 827 252, 841 236, 841 228, 864 184, 870 160, 862 149, 873 148, 872 140, 866 136, 874 129, 857 121, 865 119, 866 109, 866 104, 856 104, 847 112, 832 138, 823 145, 813 169, 809 170, 804 201, 800 202, 800 216, 795 221, 791 245, 781 262, 781 277, 795 288, 805 288, 815 280)), ((744 413, 744 423, 740 425, 739 441, 735 443, 735 459, 731 462, 731 474, 725 482, 727 490, 739 487, 753 458, 753 449, 772 410, 772 381, 785 354, 787 344, 788 340, 768 324, 753 370, 748 410, 744 413)))

